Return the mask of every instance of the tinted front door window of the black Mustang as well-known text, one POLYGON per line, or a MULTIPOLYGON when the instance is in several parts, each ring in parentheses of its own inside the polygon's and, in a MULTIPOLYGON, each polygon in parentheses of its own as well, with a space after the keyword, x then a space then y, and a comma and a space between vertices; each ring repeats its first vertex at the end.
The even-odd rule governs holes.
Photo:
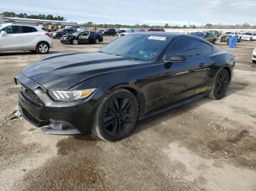
POLYGON ((181 39, 172 47, 173 55, 185 55, 187 58, 199 56, 200 42, 194 39, 181 39))

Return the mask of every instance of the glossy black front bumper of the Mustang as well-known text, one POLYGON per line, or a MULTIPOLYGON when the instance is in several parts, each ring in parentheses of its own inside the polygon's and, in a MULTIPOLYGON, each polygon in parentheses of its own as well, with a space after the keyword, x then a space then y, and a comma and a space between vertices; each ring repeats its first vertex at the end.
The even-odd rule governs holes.
POLYGON ((23 74, 18 74, 15 79, 23 87, 34 91, 36 94, 34 96, 39 98, 37 101, 31 100, 23 90, 20 90, 18 106, 22 116, 41 128, 44 133, 59 135, 91 133, 94 112, 100 103, 99 99, 104 95, 100 90, 80 101, 53 101, 40 85, 23 74))

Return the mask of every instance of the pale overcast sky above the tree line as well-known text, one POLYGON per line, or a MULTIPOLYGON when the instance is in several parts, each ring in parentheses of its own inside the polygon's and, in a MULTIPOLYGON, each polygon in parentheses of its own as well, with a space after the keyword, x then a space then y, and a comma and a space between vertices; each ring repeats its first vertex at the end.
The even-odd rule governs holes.
POLYGON ((0 0, 0 12, 64 16, 78 23, 256 25, 256 0, 0 0))

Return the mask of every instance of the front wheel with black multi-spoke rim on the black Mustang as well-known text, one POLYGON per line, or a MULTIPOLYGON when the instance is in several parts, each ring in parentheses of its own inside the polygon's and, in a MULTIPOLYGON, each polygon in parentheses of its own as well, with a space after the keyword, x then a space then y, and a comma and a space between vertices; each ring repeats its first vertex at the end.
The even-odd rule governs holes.
POLYGON ((108 95, 94 115, 92 133, 105 141, 128 136, 138 119, 138 102, 128 90, 115 90, 108 95))

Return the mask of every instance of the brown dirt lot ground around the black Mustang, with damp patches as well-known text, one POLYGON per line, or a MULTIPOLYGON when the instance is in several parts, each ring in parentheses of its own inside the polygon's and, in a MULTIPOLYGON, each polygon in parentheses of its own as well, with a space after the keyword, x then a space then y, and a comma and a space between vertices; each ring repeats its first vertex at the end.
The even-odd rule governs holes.
MULTIPOLYGON (((102 45, 55 41, 51 52, 102 45)), ((237 66, 225 98, 203 98, 143 120, 115 143, 50 136, 22 117, 12 119, 18 100, 13 77, 42 55, 2 53, 0 190, 256 190, 255 46, 241 42, 230 50, 237 66)))

